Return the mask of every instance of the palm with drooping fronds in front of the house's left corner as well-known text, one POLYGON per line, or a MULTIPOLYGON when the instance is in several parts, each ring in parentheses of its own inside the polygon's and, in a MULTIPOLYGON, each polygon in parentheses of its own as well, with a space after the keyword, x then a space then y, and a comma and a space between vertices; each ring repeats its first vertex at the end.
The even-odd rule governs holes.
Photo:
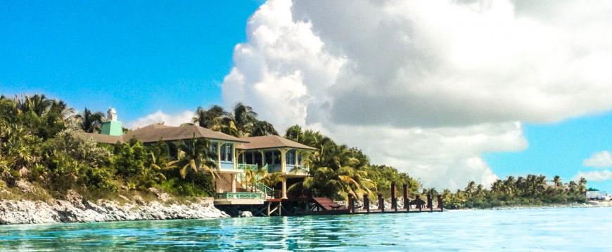
MULTIPOLYGON (((181 159, 182 168, 179 170, 181 178, 185 179, 191 171, 193 173, 209 173, 212 180, 219 178, 217 167, 217 154, 210 150, 210 142, 205 138, 196 138, 195 135, 188 142, 181 141, 179 150, 184 153, 181 159)), ((193 184, 193 178, 191 178, 193 184)), ((215 183, 216 186, 216 183, 215 183)))

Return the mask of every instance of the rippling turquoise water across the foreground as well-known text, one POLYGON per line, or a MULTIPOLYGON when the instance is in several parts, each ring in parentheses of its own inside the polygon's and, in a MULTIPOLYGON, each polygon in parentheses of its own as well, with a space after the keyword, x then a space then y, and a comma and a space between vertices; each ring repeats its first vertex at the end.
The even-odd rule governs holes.
POLYGON ((0 226, 22 251, 612 251, 612 208, 0 226))

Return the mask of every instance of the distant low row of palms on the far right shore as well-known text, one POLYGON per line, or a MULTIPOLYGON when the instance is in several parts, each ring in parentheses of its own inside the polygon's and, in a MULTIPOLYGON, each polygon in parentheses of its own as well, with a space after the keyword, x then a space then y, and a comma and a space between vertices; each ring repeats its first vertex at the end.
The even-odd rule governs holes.
POLYGON ((529 206, 542 204, 568 204, 585 202, 583 192, 587 180, 580 178, 578 183, 561 182, 559 176, 554 176, 547 183, 544 175, 527 175, 526 178, 509 176, 505 180, 497 180, 490 190, 483 185, 468 183, 464 190, 451 193, 443 192, 445 207, 457 208, 490 208, 497 206, 529 206))

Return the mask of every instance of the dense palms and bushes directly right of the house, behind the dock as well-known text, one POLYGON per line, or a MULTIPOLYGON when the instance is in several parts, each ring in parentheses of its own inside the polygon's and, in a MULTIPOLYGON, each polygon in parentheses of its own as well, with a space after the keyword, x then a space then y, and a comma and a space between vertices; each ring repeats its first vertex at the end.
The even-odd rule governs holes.
POLYGON ((349 195, 361 198, 363 194, 374 197, 378 192, 390 194, 391 183, 398 186, 405 183, 413 194, 419 190, 419 183, 406 173, 370 164, 361 150, 338 145, 318 131, 291 126, 285 138, 317 149, 305 159, 311 176, 295 185, 295 190, 302 193, 333 199, 346 199, 349 195))

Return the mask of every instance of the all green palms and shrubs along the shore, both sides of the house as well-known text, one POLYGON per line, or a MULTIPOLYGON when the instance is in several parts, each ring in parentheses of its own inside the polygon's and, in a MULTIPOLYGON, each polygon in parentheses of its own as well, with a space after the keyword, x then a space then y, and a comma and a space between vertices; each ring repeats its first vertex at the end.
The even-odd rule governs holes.
MULTIPOLYGON (((57 197, 67 190, 110 195, 152 187, 179 196, 214 194, 217 156, 208 140, 99 144, 85 133, 99 132, 104 120, 101 112, 85 108, 77 114, 65 102, 45 95, 0 96, 0 187, 27 181, 57 197)), ((191 123, 236 137, 279 134, 243 103, 229 112, 217 105, 208 110, 198 107, 191 123)), ((284 136, 316 149, 302 158, 310 176, 292 181, 290 194, 338 200, 378 193, 389 197, 392 184, 407 185, 411 197, 438 193, 391 166, 371 164, 361 150, 338 144, 319 131, 295 125, 284 136)), ((278 189, 288 180, 262 168, 243 175, 248 190, 256 190, 258 184, 278 189)), ((543 175, 528 175, 497 180, 490 189, 472 182, 465 190, 442 194, 448 208, 567 203, 584 201, 585 185, 584 179, 563 184, 558 176, 547 181, 543 175)))

